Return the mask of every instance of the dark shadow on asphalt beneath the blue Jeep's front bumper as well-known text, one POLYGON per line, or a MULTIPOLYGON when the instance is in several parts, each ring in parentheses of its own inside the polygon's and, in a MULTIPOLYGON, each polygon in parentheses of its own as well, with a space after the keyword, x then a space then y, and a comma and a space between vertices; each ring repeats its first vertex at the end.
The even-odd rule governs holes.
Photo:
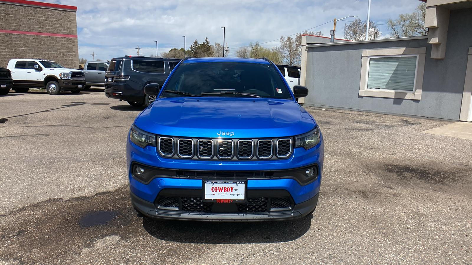
POLYGON ((143 228, 153 237, 173 242, 241 244, 287 242, 311 227, 313 215, 291 222, 189 222, 159 221, 143 217, 143 228))

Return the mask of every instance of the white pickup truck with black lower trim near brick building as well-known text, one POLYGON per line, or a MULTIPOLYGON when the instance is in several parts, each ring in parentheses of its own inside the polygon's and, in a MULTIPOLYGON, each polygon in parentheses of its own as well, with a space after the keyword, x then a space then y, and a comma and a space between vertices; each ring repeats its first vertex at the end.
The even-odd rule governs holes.
POLYGON ((29 88, 46 88, 51 95, 60 91, 79 93, 85 87, 85 75, 77 69, 64 68, 56 62, 37 59, 11 59, 8 62, 17 93, 29 88))

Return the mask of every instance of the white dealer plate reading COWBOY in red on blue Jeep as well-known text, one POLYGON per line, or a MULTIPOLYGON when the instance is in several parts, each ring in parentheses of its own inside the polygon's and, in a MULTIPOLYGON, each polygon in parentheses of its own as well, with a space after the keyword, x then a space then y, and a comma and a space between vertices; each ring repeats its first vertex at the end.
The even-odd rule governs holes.
POLYGON ((235 203, 246 201, 245 181, 203 181, 203 201, 235 203))

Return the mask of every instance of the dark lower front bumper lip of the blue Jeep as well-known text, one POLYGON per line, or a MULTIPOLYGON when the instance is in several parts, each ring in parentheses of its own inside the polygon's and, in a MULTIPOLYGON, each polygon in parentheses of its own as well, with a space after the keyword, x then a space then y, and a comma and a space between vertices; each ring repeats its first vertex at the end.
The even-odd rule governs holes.
MULTIPOLYGON (((198 191, 197 191, 198 192, 198 191)), ((248 193, 250 194, 250 193, 248 193)), ((293 220, 302 218, 310 214, 318 204, 318 196, 316 194, 311 199, 295 204, 295 206, 286 210, 269 210, 267 212, 190 212, 160 209, 159 206, 152 202, 148 202, 136 196, 132 191, 131 203, 136 210, 155 219, 162 220, 187 220, 187 221, 280 221, 293 220)), ((251 196, 251 195, 248 195, 251 196)), ((232 207, 230 204, 213 203, 212 207, 219 209, 227 209, 232 207), (218 206, 215 206, 217 205, 218 206)), ((237 207, 236 207, 237 208, 237 207)))

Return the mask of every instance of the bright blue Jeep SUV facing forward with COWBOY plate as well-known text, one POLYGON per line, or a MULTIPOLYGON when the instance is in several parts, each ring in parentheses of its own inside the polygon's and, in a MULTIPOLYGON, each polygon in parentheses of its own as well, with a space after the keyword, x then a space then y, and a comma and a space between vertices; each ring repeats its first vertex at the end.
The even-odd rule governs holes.
POLYGON ((296 219, 314 211, 323 137, 267 58, 185 58, 136 117, 126 145, 132 204, 194 221, 296 219))

